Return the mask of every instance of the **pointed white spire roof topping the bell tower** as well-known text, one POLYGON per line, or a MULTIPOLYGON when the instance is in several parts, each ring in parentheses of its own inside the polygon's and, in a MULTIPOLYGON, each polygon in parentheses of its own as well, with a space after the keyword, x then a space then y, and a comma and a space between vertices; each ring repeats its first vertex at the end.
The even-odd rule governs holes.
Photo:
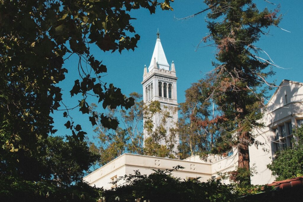
POLYGON ((151 63, 148 67, 148 71, 151 71, 153 68, 155 68, 155 62, 157 64, 157 68, 169 70, 169 64, 167 62, 163 47, 161 45, 159 31, 157 32, 156 45, 155 45, 154 53, 152 54, 151 57, 151 63))

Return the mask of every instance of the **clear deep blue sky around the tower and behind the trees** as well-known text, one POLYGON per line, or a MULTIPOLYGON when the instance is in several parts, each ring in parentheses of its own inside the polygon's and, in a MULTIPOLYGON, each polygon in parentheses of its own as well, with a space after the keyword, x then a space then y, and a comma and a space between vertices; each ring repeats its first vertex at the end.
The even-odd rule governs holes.
MULTIPOLYGON (((279 66, 285 69, 274 68, 276 75, 270 79, 276 80, 279 84, 283 79, 303 82, 303 1, 288 0, 278 1, 271 0, 275 4, 281 4, 280 13, 283 19, 280 27, 286 29, 283 31, 276 27, 271 27, 269 35, 261 36, 260 41, 256 44, 265 50, 271 59, 279 66)), ((268 7, 273 10, 277 5, 271 5, 263 0, 255 1, 257 7, 268 7)), ((175 0, 171 4, 174 11, 162 11, 160 8, 156 13, 150 15, 148 10, 139 9, 131 13, 132 21, 136 34, 141 36, 138 42, 138 48, 135 51, 122 51, 115 53, 104 53, 98 47, 91 46, 91 53, 96 59, 102 60, 107 66, 108 72, 103 75, 103 81, 113 83, 116 87, 122 89, 122 93, 128 95, 131 92, 142 93, 142 76, 144 65, 149 65, 151 56, 156 42, 156 32, 159 28, 161 43, 165 51, 166 58, 170 64, 174 60, 176 74, 178 77, 177 91, 178 103, 184 102, 184 91, 190 87, 191 83, 198 81, 206 72, 213 69, 211 61, 215 60, 215 47, 205 47, 196 50, 201 38, 207 35, 206 13, 189 18, 187 20, 178 20, 201 11, 206 8, 203 1, 192 0, 175 0)), ((203 44, 201 44, 203 46, 203 44)), ((266 58, 263 54, 261 57, 266 58)), ((63 100, 68 107, 74 107, 77 102, 76 98, 70 98, 69 91, 74 85, 74 80, 78 79, 78 59, 69 58, 65 62, 65 68, 68 69, 65 81, 60 83, 63 90, 63 100)), ((271 92, 273 93, 273 92, 271 92)), ((78 98, 80 99, 80 97, 78 98)), ((90 100, 97 102, 95 100, 90 100)), ((100 110, 102 106, 100 104, 100 110)), ((58 129, 57 135, 70 134, 63 124, 68 121, 62 117, 62 111, 55 112, 53 115, 55 128, 58 129)), ((86 114, 82 115, 78 108, 70 111, 71 116, 76 124, 81 124, 82 129, 88 133, 88 137, 94 134, 91 123, 88 121, 86 114)))

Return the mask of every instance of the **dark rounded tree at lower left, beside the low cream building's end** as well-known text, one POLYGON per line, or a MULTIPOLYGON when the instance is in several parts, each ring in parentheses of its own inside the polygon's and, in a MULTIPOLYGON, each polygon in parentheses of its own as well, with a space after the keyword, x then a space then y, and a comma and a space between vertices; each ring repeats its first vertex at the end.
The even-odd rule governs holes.
MULTIPOLYGON (((99 155, 89 152, 87 142, 71 136, 48 137, 44 144, 45 155, 39 159, 19 160, 16 170, 22 175, 1 172, 0 200, 80 201, 86 197, 95 201, 100 190, 83 183, 82 177, 99 155)), ((1 161, 5 161, 3 156, 1 161)))

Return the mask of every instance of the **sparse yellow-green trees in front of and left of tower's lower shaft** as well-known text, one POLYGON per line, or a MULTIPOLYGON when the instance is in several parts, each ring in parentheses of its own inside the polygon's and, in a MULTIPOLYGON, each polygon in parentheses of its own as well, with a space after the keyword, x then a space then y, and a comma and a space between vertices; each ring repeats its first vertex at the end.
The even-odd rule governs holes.
MULTIPOLYGON (((142 94, 134 92, 129 96, 135 99, 132 108, 129 110, 108 108, 108 113, 105 114, 109 118, 119 120, 121 127, 116 130, 108 129, 102 126, 101 119, 96 120, 94 129, 97 134, 96 141, 90 142, 90 150, 101 156, 96 164, 102 166, 124 153, 174 158, 172 149, 175 131, 172 129, 167 137, 165 128, 166 122, 171 118, 168 109, 161 109, 158 101, 145 105, 142 94), (154 127, 155 114, 161 117, 159 123, 156 123, 158 127, 154 127), (144 125, 143 117, 145 118, 144 125), (167 144, 160 145, 162 140, 165 140, 167 144)), ((91 105, 91 109, 98 111, 95 104, 91 105)))

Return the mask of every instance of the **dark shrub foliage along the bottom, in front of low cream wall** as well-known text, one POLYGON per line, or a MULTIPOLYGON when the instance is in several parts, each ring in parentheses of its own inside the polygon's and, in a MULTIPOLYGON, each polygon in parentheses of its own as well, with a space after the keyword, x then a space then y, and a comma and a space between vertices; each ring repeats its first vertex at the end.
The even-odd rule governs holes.
POLYGON ((173 177, 172 170, 153 170, 150 175, 139 171, 126 175, 116 182, 124 181, 122 186, 104 190, 102 196, 109 201, 237 201, 233 185, 225 185, 220 180, 201 182, 199 179, 181 180, 173 177))

